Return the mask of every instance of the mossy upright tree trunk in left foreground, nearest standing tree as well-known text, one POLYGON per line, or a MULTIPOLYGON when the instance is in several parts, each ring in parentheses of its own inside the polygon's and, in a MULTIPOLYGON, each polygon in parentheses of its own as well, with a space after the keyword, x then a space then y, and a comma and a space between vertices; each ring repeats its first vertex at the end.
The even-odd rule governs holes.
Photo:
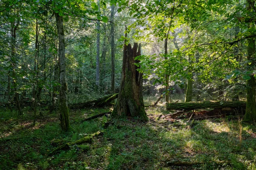
POLYGON ((59 101, 60 101, 60 120, 61 130, 70 130, 69 111, 67 105, 67 79, 66 79, 66 63, 65 63, 65 37, 63 28, 63 17, 55 13, 58 31, 58 55, 60 64, 60 90, 59 90, 59 101))

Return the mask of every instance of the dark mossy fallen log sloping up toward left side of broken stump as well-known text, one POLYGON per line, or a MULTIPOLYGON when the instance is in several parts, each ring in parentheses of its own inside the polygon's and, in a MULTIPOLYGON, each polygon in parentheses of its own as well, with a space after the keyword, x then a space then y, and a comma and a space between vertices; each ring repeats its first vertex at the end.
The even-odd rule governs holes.
POLYGON ((114 99, 117 99, 118 94, 111 94, 99 99, 95 100, 90 100, 88 102, 83 102, 83 103, 75 103, 75 104, 70 104, 71 109, 82 109, 82 108, 89 108, 91 106, 93 107, 104 107, 107 105, 111 104, 111 101, 114 99))

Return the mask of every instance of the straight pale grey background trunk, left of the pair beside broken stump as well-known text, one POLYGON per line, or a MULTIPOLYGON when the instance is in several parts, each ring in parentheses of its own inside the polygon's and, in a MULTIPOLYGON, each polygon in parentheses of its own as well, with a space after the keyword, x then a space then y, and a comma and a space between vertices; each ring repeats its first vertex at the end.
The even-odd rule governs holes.
MULTIPOLYGON (((99 6, 99 0, 98 0, 98 6, 99 6)), ((100 22, 96 22, 96 30, 97 30, 97 50, 96 50, 96 91, 99 90, 99 40, 100 40, 100 22)))

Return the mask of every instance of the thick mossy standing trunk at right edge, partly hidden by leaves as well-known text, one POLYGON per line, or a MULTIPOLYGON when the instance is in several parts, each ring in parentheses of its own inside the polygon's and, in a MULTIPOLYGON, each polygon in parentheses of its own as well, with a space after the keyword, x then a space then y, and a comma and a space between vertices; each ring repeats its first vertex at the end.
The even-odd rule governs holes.
MULTIPOLYGON (((252 62, 252 65, 255 65, 255 39, 248 39, 247 46, 247 58, 252 62)), ((250 75, 250 79, 247 80, 247 101, 246 101, 246 111, 244 115, 245 120, 256 120, 256 83, 254 75, 250 75)))

